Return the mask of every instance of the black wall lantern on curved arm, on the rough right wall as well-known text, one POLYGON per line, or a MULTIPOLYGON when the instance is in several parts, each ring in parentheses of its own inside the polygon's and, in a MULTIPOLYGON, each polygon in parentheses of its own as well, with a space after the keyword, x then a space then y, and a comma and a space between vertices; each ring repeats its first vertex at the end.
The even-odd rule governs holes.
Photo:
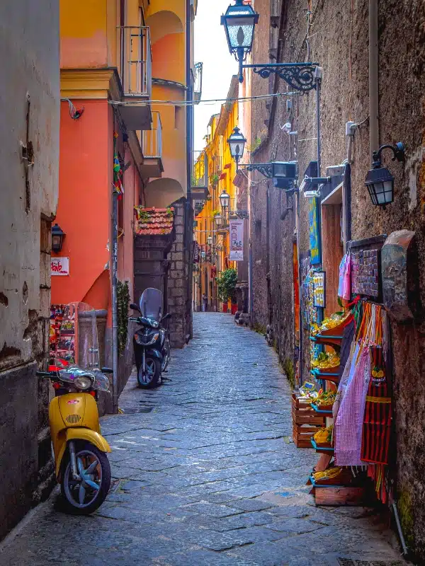
POLYGON ((391 149, 392 161, 404 161, 404 144, 401 141, 395 146, 385 144, 378 151, 373 151, 372 168, 366 175, 365 184, 373 204, 385 208, 394 200, 394 177, 386 167, 382 167, 381 154, 384 149, 391 149))

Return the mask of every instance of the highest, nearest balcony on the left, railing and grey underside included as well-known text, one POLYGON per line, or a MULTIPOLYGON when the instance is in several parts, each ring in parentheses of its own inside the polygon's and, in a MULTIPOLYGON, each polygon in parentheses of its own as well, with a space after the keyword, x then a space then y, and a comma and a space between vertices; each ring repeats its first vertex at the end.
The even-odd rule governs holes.
POLYGON ((146 104, 152 97, 152 52, 149 28, 146 26, 121 26, 121 83, 123 102, 120 114, 129 130, 147 130, 152 115, 146 104))

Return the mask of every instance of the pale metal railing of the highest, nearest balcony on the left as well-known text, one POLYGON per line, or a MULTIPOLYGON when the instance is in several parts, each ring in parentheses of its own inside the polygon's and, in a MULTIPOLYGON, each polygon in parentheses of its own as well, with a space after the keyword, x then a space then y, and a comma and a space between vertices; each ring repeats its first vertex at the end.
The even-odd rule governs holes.
POLYGON ((152 95, 152 52, 149 28, 120 26, 121 82, 125 96, 152 95))

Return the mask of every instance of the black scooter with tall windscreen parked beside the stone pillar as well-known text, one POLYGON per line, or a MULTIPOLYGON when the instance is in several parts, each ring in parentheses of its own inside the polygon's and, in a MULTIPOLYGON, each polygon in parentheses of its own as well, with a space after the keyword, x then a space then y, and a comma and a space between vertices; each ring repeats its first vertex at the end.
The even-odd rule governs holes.
POLYGON ((133 335, 133 347, 137 368, 137 383, 143 389, 151 389, 159 384, 171 358, 169 332, 162 326, 164 320, 171 318, 163 313, 164 297, 159 289, 145 289, 140 297, 139 306, 130 308, 140 316, 130 317, 140 325, 133 335))

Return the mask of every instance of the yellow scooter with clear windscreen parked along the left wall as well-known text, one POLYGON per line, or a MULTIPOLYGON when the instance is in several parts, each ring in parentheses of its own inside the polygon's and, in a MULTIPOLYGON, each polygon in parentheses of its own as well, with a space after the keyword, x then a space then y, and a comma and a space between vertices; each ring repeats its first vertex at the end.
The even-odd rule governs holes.
POLYGON ((100 507, 111 487, 106 456, 111 448, 101 436, 96 400, 98 391, 109 391, 105 374, 113 371, 100 367, 94 308, 67 306, 50 367, 36 375, 50 379, 55 389, 49 422, 56 477, 66 510, 87 515, 100 507))

